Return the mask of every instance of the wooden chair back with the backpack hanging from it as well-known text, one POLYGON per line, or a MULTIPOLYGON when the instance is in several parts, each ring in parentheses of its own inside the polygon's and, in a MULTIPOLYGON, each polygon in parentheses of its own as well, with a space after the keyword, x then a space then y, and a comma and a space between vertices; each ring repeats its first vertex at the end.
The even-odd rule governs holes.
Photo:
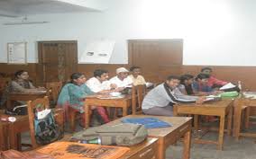
POLYGON ((27 102, 28 105, 28 116, 30 122, 30 135, 32 140, 32 148, 36 148, 38 144, 35 139, 35 129, 34 129, 34 118, 36 110, 41 107, 41 110, 49 109, 49 99, 47 96, 43 98, 38 98, 34 101, 27 102))

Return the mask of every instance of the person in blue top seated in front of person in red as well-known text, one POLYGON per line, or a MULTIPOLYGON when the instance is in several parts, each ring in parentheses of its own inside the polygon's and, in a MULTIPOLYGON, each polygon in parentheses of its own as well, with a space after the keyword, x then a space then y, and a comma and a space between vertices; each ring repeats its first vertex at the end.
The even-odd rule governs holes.
POLYGON ((222 93, 221 91, 215 91, 208 85, 209 75, 199 74, 196 77, 195 82, 192 84, 193 92, 197 95, 211 95, 222 93))

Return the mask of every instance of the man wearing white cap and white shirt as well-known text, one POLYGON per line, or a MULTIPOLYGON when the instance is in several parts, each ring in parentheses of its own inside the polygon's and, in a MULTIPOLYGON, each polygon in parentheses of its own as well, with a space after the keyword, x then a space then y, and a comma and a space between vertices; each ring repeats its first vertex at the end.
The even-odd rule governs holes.
POLYGON ((124 67, 117 68, 116 76, 112 77, 109 80, 109 83, 116 84, 119 89, 124 89, 125 87, 132 85, 133 80, 128 76, 128 73, 129 71, 124 67))

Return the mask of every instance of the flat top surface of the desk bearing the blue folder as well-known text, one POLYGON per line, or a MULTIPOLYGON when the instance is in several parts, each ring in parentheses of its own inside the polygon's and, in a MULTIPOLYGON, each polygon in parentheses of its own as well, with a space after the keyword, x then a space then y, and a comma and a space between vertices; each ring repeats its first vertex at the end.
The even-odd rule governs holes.
POLYGON ((166 137, 169 133, 176 130, 177 128, 182 127, 184 124, 186 124, 189 120, 192 118, 190 117, 166 117, 166 116, 150 116, 150 115, 128 115, 121 119, 115 119, 114 121, 111 121, 108 124, 114 125, 121 123, 122 119, 126 118, 156 118, 160 119, 162 121, 168 122, 172 126, 169 128, 149 128, 148 133, 151 137, 166 137))

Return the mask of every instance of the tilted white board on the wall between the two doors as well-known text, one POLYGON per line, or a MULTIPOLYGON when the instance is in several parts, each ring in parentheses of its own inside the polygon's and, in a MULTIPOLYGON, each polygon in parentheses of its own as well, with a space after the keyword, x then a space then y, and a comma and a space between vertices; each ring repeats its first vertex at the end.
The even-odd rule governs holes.
POLYGON ((114 50, 114 40, 88 42, 78 59, 79 64, 108 64, 114 50))

